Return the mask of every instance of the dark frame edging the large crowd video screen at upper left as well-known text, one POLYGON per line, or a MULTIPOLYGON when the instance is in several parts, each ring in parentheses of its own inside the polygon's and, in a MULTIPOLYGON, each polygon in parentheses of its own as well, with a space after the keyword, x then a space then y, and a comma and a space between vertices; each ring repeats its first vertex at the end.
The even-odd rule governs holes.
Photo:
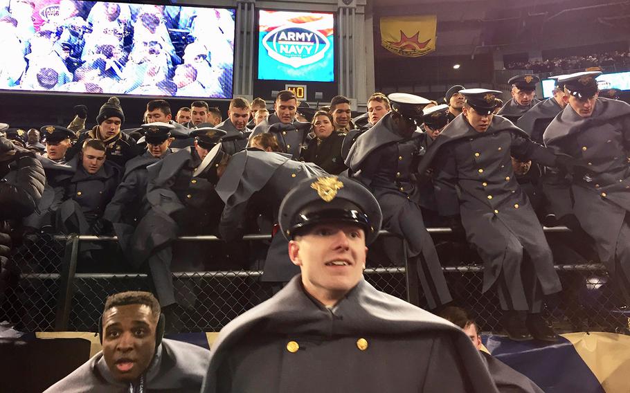
MULTIPOLYGON (((102 3, 102 0, 80 0, 86 2, 93 3, 102 3)), ((62 97, 101 97, 101 98, 109 98, 111 96, 116 96, 120 98, 139 98, 144 100, 167 100, 167 99, 204 99, 211 101, 230 101, 235 97, 234 94, 234 80, 235 80, 235 65, 236 65, 236 36, 238 29, 238 18, 237 18, 237 7, 232 6, 212 6, 208 4, 194 4, 190 5, 188 3, 172 3, 170 1, 140 1, 140 0, 113 0, 111 3, 121 3, 121 4, 138 4, 140 6, 174 6, 174 7, 185 7, 185 8, 212 8, 212 9, 224 9, 224 10, 233 10, 234 12, 234 48, 232 51, 232 96, 230 98, 210 98, 210 97, 197 97, 197 96, 189 96, 189 95, 143 95, 143 94, 125 94, 125 93, 88 93, 88 92, 71 92, 71 91, 42 91, 42 90, 21 90, 21 89, 0 89, 1 95, 10 95, 10 94, 26 94, 26 95, 37 95, 42 97, 51 97, 51 96, 62 96, 62 97)), ((27 68, 28 69, 28 68, 27 68)), ((25 70, 26 71, 26 70, 25 70)))

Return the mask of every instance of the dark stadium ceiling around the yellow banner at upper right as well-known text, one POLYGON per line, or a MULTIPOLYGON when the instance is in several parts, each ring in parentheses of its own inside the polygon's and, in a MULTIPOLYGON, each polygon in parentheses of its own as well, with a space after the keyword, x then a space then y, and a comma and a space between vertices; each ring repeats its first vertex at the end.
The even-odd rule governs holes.
POLYGON ((569 46, 584 35, 630 39, 630 0, 368 0, 367 6, 375 39, 381 16, 438 15, 438 43, 447 54, 549 44, 563 33, 569 46))

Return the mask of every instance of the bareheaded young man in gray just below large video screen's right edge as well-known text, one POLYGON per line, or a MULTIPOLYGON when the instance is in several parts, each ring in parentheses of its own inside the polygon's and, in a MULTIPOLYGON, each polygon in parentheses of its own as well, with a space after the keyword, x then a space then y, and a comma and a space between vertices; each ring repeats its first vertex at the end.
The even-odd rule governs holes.
POLYGON ((221 139, 224 152, 233 156, 247 146, 247 137, 244 132, 247 130, 247 122, 250 115, 249 101, 244 98, 233 98, 228 107, 228 118, 217 125, 217 129, 226 131, 226 135, 221 139))

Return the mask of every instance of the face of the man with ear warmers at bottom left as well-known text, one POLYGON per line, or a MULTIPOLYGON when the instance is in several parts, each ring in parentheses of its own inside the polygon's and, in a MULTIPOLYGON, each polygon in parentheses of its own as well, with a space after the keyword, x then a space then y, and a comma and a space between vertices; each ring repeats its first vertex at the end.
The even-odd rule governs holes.
POLYGON ((118 381, 135 381, 155 353, 157 321, 145 304, 112 307, 102 316, 103 357, 118 381))

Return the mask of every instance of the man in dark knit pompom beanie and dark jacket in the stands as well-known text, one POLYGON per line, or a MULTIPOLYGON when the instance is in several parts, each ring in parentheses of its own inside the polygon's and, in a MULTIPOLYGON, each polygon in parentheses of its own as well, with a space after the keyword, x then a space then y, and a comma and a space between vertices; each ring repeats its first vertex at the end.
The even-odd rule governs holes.
POLYGON ((100 140, 107 148, 107 162, 114 163, 122 170, 125 163, 137 156, 140 152, 136 145, 136 140, 131 136, 120 132, 120 125, 125 122, 123 108, 120 107, 120 100, 111 97, 100 107, 96 116, 97 125, 91 131, 84 132, 79 136, 78 142, 68 152, 71 158, 82 148, 83 142, 88 139, 100 140))

